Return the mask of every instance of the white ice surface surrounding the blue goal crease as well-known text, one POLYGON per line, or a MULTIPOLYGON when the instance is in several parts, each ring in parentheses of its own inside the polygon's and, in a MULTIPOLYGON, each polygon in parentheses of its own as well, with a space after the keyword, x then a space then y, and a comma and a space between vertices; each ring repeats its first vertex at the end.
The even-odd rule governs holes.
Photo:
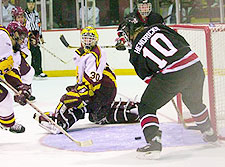
MULTIPOLYGON (((68 85, 74 84, 73 77, 34 80, 34 103, 41 111, 54 111, 60 97, 68 85)), ((146 84, 136 76, 118 76, 118 96, 139 100, 146 84)), ((12 134, 0 130, 1 167, 224 167, 225 145, 195 145, 165 147, 159 160, 140 160, 135 150, 85 153, 46 147, 40 140, 47 134, 32 118, 35 110, 29 105, 14 104, 16 120, 26 127, 23 134, 12 134)), ((176 111, 169 102, 158 112, 160 122, 177 121, 176 111)), ((80 120, 74 128, 91 126, 88 120, 80 120)), ((88 140, 88 139, 87 139, 88 140)))

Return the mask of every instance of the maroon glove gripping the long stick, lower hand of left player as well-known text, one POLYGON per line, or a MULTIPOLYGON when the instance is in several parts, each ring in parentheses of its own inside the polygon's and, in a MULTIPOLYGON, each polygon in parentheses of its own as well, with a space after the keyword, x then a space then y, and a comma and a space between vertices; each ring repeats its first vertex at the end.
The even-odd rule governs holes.
POLYGON ((29 91, 30 87, 26 84, 22 84, 17 87, 17 90, 19 91, 19 94, 14 96, 14 101, 22 106, 26 105, 26 99, 31 95, 29 91))

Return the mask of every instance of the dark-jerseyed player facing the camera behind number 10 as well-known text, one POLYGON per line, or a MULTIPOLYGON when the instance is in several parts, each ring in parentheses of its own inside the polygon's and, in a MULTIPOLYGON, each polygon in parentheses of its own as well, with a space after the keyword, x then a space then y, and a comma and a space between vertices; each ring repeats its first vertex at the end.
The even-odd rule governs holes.
POLYGON ((117 30, 116 49, 125 50, 125 37, 123 36, 122 25, 124 22, 132 22, 136 27, 149 27, 153 24, 164 23, 162 16, 152 11, 152 0, 137 0, 137 8, 134 12, 126 16, 117 30))

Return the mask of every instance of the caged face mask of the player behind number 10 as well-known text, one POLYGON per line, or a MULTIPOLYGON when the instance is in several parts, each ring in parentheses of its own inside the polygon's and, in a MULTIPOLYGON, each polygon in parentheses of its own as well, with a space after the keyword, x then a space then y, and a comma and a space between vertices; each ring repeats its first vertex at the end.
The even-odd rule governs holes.
POLYGON ((141 16, 147 17, 152 11, 152 4, 150 0, 137 0, 137 8, 141 16))

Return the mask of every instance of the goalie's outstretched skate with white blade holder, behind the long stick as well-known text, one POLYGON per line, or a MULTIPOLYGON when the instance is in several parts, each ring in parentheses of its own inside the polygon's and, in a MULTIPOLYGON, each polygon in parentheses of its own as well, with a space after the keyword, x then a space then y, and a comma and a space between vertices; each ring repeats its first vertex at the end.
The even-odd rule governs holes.
MULTIPOLYGON (((51 118, 53 121, 55 121, 55 116, 54 114, 50 112, 45 112, 45 115, 47 115, 49 118, 51 118)), ((47 130, 48 132, 52 134, 59 134, 60 131, 53 125, 52 123, 48 122, 43 116, 35 113, 33 118, 39 122, 39 126, 42 127, 43 129, 47 130)))

